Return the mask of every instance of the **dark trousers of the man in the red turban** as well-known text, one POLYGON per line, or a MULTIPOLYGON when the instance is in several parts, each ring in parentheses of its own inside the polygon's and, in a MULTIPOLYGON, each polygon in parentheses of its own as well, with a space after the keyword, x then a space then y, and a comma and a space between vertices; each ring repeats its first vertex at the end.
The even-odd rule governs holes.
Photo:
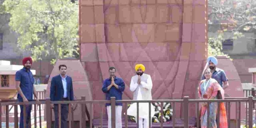
MULTIPOLYGON (((22 99, 18 99, 19 102, 23 102, 22 99)), ((19 120, 19 128, 24 128, 24 124, 23 124, 23 105, 19 105, 20 107, 20 120, 19 120)), ((32 105, 26 105, 26 124, 27 124, 27 128, 29 126, 29 122, 30 122, 30 117, 31 117, 31 109, 32 109, 32 105)))

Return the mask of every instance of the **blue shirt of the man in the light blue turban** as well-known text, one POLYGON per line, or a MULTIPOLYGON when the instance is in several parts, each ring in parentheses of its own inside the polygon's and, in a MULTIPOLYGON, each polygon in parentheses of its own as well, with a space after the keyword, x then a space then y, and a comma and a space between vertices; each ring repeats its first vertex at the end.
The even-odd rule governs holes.
MULTIPOLYGON (((223 82, 228 81, 227 76, 224 72, 224 70, 219 69, 216 67, 215 71, 212 73, 212 78, 215 79, 221 87, 223 87, 223 82)), ((204 80, 205 77, 203 75, 202 80, 204 80)))

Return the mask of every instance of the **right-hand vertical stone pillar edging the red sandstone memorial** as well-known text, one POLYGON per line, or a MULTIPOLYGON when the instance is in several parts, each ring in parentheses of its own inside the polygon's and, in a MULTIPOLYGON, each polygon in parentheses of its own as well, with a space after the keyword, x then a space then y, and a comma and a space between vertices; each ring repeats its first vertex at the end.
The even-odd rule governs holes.
MULTIPOLYGON (((194 99, 197 97, 193 93, 197 92, 191 93, 188 86, 193 83, 193 90, 196 90, 207 58, 207 0, 184 0, 182 23, 180 64, 175 77, 172 98, 180 99, 189 96, 190 99, 194 99), (195 66, 200 70, 196 71, 195 66)), ((194 107, 191 105, 190 109, 194 107)), ((178 104, 177 108, 181 108, 181 105, 178 104)), ((177 114, 182 116, 182 110, 177 114)), ((194 114, 190 111, 190 115, 194 114)))

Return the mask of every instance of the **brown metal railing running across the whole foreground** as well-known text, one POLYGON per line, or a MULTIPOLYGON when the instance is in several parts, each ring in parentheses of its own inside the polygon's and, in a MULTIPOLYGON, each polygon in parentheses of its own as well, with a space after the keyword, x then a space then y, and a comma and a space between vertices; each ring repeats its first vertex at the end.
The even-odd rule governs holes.
MULTIPOLYGON (((32 104, 34 107, 34 110, 37 110, 36 105, 40 105, 40 104, 46 104, 46 123, 47 123, 47 128, 51 128, 52 125, 52 109, 51 109, 51 104, 58 104, 58 115, 61 115, 61 111, 60 111, 60 107, 61 104, 69 104, 69 120, 68 120, 68 125, 69 128, 74 128, 74 117, 73 117, 73 111, 71 109, 71 103, 72 104, 79 104, 80 107, 80 128, 85 128, 86 127, 86 116, 89 120, 89 125, 90 128, 93 127, 93 118, 90 118, 89 115, 92 115, 93 113, 93 105, 95 104, 101 104, 101 120, 100 120, 100 126, 99 127, 103 127, 103 107, 105 103, 111 103, 111 125, 112 128, 115 128, 115 103, 123 103, 124 105, 124 113, 127 113, 127 105, 128 103, 137 103, 137 127, 139 127, 139 103, 148 103, 149 104, 149 113, 151 113, 151 103, 154 102, 160 102, 161 103, 161 113, 163 113, 163 103, 171 103, 172 109, 173 109, 173 115, 172 115, 172 127, 175 127, 175 109, 177 109, 176 105, 177 104, 182 104, 182 110, 183 110, 183 118, 184 118, 184 128, 188 128, 189 127, 189 109, 191 104, 195 104, 196 106, 196 125, 197 127, 200 126, 200 122, 199 122, 199 108, 200 108, 200 103, 207 103, 208 104, 208 109, 209 109, 209 104, 211 102, 217 102, 218 105, 221 102, 224 102, 226 104, 226 112, 227 112, 227 120, 228 120, 228 128, 231 127, 230 123, 231 123, 231 119, 230 119, 230 114, 231 114, 231 110, 230 110, 230 106, 231 103, 236 103, 236 109, 234 111, 232 111, 232 113, 236 113, 236 128, 240 128, 241 125, 241 105, 243 104, 243 102, 246 104, 246 106, 248 105, 248 110, 246 107, 246 113, 245 113, 245 117, 246 117, 246 128, 248 125, 248 128, 253 128, 253 105, 256 103, 256 99, 253 99, 252 96, 249 97, 241 97, 241 98, 225 98, 224 100, 197 100, 197 99, 189 99, 189 97, 183 97, 183 99, 179 99, 179 100, 115 100, 114 97, 111 98, 111 100, 94 100, 94 101, 86 101, 85 97, 81 97, 81 100, 75 100, 75 101, 50 101, 49 98, 46 98, 46 100, 40 100, 40 101, 30 101, 28 103, 24 103, 24 102, 3 102, 0 100, 0 109, 2 109, 2 106, 6 106, 6 110, 9 110, 8 107, 9 105, 14 105, 14 109, 15 109, 15 128, 18 128, 18 113, 17 113, 17 105, 24 105, 24 113, 26 113, 26 105, 28 104, 32 104), (89 106, 88 110, 87 110, 87 106, 89 106)), ((41 109, 39 107, 39 109, 41 109)), ((208 115, 209 115, 210 111, 208 111, 208 115)), ((41 117, 41 113, 40 117, 41 117)), ((1 113, 0 113, 1 116, 1 113)), ((34 117, 37 117, 37 113, 34 113, 34 117)), ((163 114, 161 114, 161 121, 160 121, 160 127, 163 127, 163 114)), ((1 119, 1 118, 0 118, 1 119)), ((24 119, 26 119, 26 114, 24 114, 24 119)), ((41 118, 40 119, 40 128, 41 126, 41 118)), ((59 116, 59 120, 61 120, 61 116, 59 116)), ((209 116, 207 118, 208 123, 207 123, 207 127, 209 128, 209 116)), ((151 127, 151 115, 149 114, 149 126, 151 127)), ((26 125, 26 120, 24 120, 24 127, 26 125)), ((36 128, 37 126, 37 118, 34 118, 34 126, 36 128)), ((0 128, 1 128, 1 123, 2 120, 0 120, 0 128)), ((217 126, 219 126, 219 108, 217 109, 217 126)), ((125 127, 128 128, 128 116, 127 114, 125 115, 125 127)), ((9 111, 6 111, 6 128, 9 128, 9 111)), ((59 128, 61 128, 61 122, 59 122, 59 128)))

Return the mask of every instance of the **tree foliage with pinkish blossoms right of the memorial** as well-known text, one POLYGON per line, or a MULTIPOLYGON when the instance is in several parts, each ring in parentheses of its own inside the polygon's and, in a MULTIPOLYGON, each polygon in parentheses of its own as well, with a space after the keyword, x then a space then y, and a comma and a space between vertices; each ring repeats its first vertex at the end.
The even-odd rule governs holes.
POLYGON ((244 32, 256 33, 256 1, 208 0, 208 19, 209 25, 219 25, 218 36, 208 39, 208 55, 225 55, 222 52, 225 32, 231 32, 229 39, 234 40, 243 37, 244 32))

